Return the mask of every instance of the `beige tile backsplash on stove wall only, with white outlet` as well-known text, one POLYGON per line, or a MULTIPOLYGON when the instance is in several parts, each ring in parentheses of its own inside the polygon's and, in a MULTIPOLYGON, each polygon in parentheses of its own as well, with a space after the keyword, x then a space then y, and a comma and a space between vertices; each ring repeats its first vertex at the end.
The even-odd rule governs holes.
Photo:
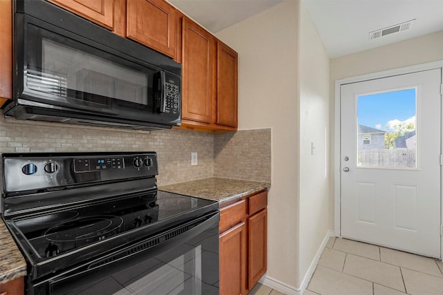
POLYGON ((135 131, 0 117, 0 151, 156 151, 159 185, 213 176, 214 137, 185 130, 135 131), (198 165, 190 166, 197 151, 198 165))

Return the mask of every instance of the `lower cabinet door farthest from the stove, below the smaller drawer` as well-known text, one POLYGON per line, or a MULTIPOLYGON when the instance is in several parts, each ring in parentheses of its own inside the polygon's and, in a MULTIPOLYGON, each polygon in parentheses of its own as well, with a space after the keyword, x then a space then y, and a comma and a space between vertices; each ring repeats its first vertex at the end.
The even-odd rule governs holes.
POLYGON ((267 210, 248 218, 248 289, 252 289, 266 272, 267 263, 267 210))

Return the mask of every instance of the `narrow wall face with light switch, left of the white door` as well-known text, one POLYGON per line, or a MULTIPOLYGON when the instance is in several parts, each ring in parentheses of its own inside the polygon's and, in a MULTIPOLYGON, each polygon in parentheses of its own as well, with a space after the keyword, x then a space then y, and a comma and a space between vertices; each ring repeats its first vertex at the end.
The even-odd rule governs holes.
MULTIPOLYGON (((300 280, 329 231, 329 57, 300 6, 300 280), (311 152, 314 143, 314 154, 311 152)), ((308 278, 306 278, 307 280, 308 278)))

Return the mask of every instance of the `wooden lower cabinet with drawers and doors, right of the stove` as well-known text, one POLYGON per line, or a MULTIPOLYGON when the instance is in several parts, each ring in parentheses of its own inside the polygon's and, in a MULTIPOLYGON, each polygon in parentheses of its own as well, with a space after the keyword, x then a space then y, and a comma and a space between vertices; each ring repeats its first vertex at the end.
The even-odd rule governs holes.
POLYGON ((247 294, 266 273, 267 192, 220 209, 220 294, 247 294))

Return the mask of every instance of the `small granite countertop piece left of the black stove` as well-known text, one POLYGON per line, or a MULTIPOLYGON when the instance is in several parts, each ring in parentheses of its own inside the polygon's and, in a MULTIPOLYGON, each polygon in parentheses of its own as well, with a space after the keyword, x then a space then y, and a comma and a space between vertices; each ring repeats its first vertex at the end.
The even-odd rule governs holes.
POLYGON ((0 285, 26 276, 26 261, 0 219, 0 285))

